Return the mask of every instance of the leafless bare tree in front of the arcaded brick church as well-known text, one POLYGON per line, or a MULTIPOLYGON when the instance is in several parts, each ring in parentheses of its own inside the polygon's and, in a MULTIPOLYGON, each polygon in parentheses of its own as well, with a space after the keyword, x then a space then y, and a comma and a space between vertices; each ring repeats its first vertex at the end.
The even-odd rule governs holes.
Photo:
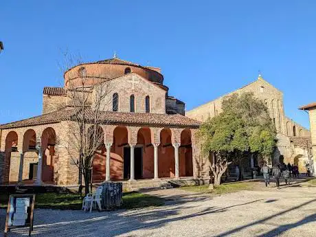
MULTIPOLYGON (((65 68, 82 64, 81 57, 65 56, 65 68)), ((106 106, 111 102, 109 83, 100 75, 87 75, 84 67, 76 71, 68 71, 67 75, 67 106, 71 113, 68 123, 68 136, 63 146, 67 148, 71 160, 78 167, 78 191, 82 193, 82 176, 84 177, 85 194, 92 188, 93 157, 95 152, 104 145, 104 133, 101 124, 106 120, 102 117, 106 106), (93 83, 91 83, 93 82, 93 83)))

